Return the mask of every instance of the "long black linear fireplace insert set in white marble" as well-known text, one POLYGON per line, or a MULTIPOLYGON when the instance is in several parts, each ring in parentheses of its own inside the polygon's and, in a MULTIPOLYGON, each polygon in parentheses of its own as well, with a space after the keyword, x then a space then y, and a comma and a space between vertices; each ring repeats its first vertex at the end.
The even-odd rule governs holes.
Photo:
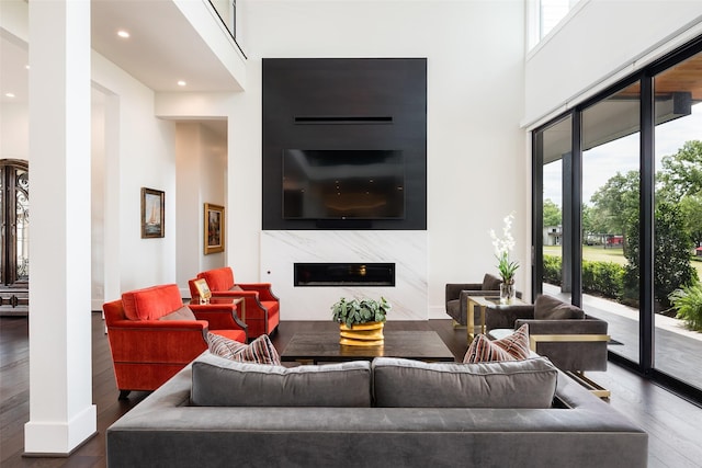
POLYGON ((395 263, 295 263, 302 286, 395 286, 395 263))

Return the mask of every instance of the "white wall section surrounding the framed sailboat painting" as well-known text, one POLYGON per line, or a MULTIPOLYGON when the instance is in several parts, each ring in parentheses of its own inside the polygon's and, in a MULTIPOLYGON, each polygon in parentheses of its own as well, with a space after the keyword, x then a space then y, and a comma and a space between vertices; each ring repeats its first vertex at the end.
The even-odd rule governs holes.
MULTIPOLYGON (((106 178, 116 181, 118 194, 106 203, 105 222, 118 229, 116 244, 105 243, 118 265, 118 292, 162 283, 176 283, 176 124, 155 116, 154 92, 100 54, 92 54, 92 80, 111 94, 117 117, 110 124, 106 178), (141 187, 166 192, 166 237, 141 239, 141 187)), ((107 111, 109 112, 109 111, 107 111)), ((114 195, 114 193, 112 193, 114 195)), ((105 293, 112 295, 114 292, 105 293)), ((115 297, 105 297, 106 300, 115 297)))

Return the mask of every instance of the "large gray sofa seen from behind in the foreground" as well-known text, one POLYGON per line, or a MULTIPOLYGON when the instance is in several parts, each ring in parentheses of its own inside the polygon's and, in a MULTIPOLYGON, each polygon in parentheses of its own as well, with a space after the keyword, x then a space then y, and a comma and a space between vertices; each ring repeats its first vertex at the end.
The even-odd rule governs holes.
POLYGON ((647 434, 546 358, 320 366, 205 352, 106 432, 116 467, 645 467, 647 434))

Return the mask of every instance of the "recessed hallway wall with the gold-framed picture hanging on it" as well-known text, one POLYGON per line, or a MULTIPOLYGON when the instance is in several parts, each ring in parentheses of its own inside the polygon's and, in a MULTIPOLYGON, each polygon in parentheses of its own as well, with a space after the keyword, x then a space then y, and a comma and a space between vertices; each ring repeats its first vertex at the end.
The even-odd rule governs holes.
POLYGON ((199 272, 226 264, 223 252, 204 254, 203 237, 204 204, 226 205, 226 137, 200 123, 179 123, 176 152, 177 282, 183 297, 189 297, 188 279, 194 278, 199 272))

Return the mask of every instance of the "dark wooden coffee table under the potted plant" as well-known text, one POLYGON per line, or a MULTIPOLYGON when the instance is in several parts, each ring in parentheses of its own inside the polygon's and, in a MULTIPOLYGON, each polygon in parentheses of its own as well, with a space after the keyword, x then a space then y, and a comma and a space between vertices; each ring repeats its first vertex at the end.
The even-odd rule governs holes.
POLYGON ((296 333, 281 353, 281 361, 317 364, 320 362, 371 361, 378 356, 427 362, 454 361, 453 353, 435 331, 385 330, 384 335, 385 344, 382 346, 349 346, 339 344, 338 331, 296 333))

